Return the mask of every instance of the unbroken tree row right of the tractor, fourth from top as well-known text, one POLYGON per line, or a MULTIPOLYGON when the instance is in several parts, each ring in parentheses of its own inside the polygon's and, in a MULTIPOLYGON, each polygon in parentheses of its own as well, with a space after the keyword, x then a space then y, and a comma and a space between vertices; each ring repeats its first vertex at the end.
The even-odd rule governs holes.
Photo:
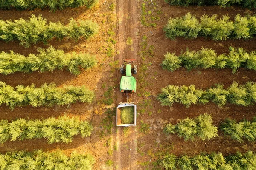
POLYGON ((198 102, 206 104, 213 102, 219 107, 227 102, 235 105, 250 106, 256 102, 256 83, 247 82, 245 85, 238 85, 233 82, 227 90, 221 84, 206 90, 196 89, 194 85, 168 85, 161 89, 157 99, 163 106, 172 106, 173 103, 181 103, 188 108, 191 104, 198 102))

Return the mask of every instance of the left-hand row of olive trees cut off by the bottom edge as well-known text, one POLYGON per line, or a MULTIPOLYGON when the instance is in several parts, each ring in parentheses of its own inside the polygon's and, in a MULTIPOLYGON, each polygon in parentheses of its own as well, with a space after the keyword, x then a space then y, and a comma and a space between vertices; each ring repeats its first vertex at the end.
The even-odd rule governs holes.
POLYGON ((15 151, 0 154, 1 170, 92 170, 94 163, 95 160, 90 154, 73 152, 67 156, 60 150, 15 151))

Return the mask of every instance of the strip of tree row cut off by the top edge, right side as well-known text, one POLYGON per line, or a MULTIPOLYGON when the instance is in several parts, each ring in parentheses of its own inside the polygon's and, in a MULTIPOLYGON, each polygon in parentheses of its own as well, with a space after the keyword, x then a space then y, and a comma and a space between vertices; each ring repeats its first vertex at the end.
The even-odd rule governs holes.
POLYGON ((255 0, 165 0, 170 5, 189 6, 189 5, 218 5, 227 7, 232 5, 240 5, 245 8, 256 8, 255 0))

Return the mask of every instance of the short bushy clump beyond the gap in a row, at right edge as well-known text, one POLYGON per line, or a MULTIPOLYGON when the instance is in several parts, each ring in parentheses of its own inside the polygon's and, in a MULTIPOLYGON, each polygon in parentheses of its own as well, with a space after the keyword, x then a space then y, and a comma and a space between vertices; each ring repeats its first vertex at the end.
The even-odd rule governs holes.
POLYGON ((250 142, 254 142, 256 139, 256 122, 236 122, 234 119, 225 119, 221 124, 220 129, 225 135, 230 136, 231 139, 238 142, 244 142, 243 139, 247 139, 250 142))

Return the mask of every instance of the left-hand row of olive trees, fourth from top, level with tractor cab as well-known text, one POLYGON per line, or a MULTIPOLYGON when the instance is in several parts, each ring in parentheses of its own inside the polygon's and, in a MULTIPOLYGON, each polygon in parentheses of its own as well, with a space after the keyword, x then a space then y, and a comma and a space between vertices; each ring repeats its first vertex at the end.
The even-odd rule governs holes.
POLYGON ((53 106, 70 105, 75 102, 92 103, 94 92, 83 86, 64 86, 56 87, 55 84, 46 83, 39 88, 35 85, 17 85, 14 89, 4 82, 0 82, 0 105, 6 104, 10 109, 16 106, 32 105, 53 106))

